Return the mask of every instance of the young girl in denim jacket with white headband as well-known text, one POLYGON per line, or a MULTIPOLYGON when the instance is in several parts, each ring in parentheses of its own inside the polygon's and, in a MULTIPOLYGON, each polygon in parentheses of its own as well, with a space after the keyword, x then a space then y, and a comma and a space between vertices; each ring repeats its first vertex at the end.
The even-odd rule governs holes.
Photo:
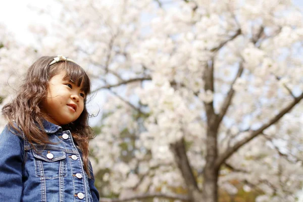
POLYGON ((3 107, 0 201, 99 201, 88 160, 90 80, 76 62, 41 57, 3 107))

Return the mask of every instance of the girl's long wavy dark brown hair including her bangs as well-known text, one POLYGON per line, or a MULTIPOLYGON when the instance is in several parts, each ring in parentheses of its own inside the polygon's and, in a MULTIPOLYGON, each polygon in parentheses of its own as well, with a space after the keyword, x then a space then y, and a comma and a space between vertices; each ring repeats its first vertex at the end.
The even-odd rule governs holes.
POLYGON ((88 126, 88 112, 86 109, 86 97, 90 93, 90 80, 85 71, 77 64, 69 61, 60 61, 51 66, 49 64, 56 56, 44 56, 34 62, 28 69, 24 83, 17 92, 17 96, 11 103, 2 108, 2 113, 8 121, 8 126, 23 132, 26 139, 34 147, 35 144, 54 144, 48 140, 48 135, 43 128, 43 114, 40 111, 40 104, 47 96, 48 81, 62 71, 66 71, 66 78, 69 78, 78 86, 84 89, 84 109, 80 117, 65 126, 64 130, 70 130, 75 143, 82 151, 84 170, 90 177, 88 165, 88 142, 92 139, 93 133, 88 126))

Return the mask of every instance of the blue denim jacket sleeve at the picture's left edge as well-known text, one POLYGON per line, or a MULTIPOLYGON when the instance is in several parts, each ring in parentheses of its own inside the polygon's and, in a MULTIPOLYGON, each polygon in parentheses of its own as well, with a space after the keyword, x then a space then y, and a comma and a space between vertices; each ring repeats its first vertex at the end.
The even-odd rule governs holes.
POLYGON ((21 201, 23 139, 8 126, 0 134, 0 201, 21 201))

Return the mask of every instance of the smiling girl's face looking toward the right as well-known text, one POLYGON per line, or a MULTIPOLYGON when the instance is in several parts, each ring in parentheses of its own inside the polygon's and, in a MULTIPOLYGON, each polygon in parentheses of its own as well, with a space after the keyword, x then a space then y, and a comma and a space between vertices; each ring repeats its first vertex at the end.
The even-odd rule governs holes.
POLYGON ((79 118, 84 109, 84 91, 69 79, 65 71, 55 75, 48 82, 47 97, 42 100, 41 112, 45 119, 59 126, 79 118))

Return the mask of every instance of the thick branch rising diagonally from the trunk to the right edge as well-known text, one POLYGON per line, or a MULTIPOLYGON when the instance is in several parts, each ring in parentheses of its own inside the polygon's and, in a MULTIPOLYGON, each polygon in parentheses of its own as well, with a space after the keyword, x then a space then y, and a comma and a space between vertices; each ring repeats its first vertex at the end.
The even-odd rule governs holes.
POLYGON ((216 166, 221 166, 233 153, 235 153, 240 147, 249 142, 251 139, 257 137, 261 134, 265 129, 269 126, 275 124, 279 121, 286 113, 290 112, 290 110, 300 102, 303 98, 303 93, 300 96, 296 97, 293 102, 291 102, 287 107, 282 109, 275 117, 273 117, 268 123, 263 124, 258 130, 251 131, 248 137, 244 138, 241 141, 235 143, 232 147, 228 148, 222 155, 217 159, 216 166))

